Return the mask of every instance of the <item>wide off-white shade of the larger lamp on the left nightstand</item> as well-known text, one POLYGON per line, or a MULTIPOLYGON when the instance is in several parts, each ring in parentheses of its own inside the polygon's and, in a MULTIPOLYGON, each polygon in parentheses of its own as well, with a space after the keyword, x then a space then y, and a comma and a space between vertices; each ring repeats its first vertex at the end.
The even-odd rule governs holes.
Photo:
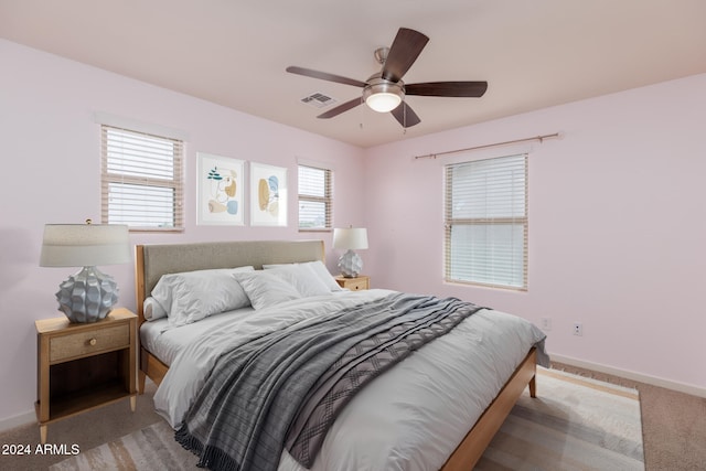
POLYGON ((130 261, 128 226, 46 224, 41 267, 94 267, 130 261))

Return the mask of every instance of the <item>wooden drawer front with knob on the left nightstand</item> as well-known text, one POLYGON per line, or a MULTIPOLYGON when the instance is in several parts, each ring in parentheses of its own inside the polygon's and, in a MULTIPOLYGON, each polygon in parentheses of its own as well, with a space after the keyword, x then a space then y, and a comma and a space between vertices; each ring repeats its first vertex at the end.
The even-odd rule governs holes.
POLYGON ((95 330, 82 330, 67 335, 55 335, 50 339, 49 361, 61 362, 90 355, 95 352, 130 346, 130 325, 101 327, 95 330))

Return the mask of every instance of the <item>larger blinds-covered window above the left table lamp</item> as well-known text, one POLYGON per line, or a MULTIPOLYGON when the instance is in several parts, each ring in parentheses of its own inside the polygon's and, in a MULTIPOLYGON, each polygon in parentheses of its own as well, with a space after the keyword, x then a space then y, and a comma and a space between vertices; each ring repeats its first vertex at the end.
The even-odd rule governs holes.
POLYGON ((182 231, 182 141, 103 125, 100 143, 103 223, 182 231))

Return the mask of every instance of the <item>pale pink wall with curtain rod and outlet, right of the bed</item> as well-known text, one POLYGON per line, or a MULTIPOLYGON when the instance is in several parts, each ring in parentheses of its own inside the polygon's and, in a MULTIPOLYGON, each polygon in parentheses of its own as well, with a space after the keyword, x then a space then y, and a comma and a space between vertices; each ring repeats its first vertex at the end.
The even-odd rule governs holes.
POLYGON ((550 318, 552 353, 704 390, 704 124, 697 75, 370 149, 366 270, 377 287, 550 318), (531 150, 528 291, 442 282, 442 165, 456 158, 413 156, 556 131, 479 152, 531 150))

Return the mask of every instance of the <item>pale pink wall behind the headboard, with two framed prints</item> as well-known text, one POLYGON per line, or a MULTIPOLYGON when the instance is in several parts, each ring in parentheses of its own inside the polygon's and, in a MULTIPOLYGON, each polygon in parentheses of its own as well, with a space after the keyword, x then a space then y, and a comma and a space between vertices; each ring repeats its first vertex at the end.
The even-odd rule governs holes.
MULTIPOLYGON (((172 93, 0 40, 0 422, 31 420, 36 389, 34 320, 61 315, 54 292, 75 269, 41 268, 45 223, 100 220, 99 128, 94 113, 178 129, 186 142, 186 231, 132 235, 132 244, 223 239, 323 238, 299 234, 296 194, 289 225, 197 226, 196 152, 288 168, 296 191, 297 159, 322 162, 345 179, 335 182, 335 223, 360 225, 364 207, 362 150, 228 108, 172 93)), ((336 254, 329 254, 335 267, 336 254)), ((132 264, 106 267, 120 287, 120 303, 135 307, 132 264)))

